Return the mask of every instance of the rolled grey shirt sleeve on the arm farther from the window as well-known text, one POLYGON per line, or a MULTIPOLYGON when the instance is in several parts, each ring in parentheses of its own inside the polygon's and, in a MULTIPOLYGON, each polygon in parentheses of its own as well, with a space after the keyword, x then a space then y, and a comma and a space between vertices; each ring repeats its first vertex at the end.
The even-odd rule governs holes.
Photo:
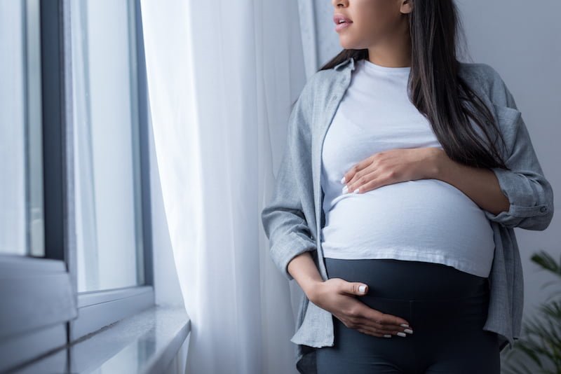
POLYGON ((553 188, 543 175, 513 95, 499 74, 494 69, 493 72, 496 76, 495 90, 501 92, 501 100, 494 105, 494 110, 505 138, 506 166, 510 170, 499 167, 491 170, 511 205, 508 212, 484 212, 489 220, 507 228, 545 230, 553 218, 553 188))

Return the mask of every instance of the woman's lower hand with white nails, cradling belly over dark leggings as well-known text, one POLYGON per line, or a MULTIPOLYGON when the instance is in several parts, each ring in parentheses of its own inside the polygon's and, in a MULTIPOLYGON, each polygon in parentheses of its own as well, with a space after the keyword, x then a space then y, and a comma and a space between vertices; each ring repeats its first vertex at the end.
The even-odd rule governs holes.
POLYGON ((360 292, 359 286, 363 285, 360 282, 331 278, 314 284, 306 296, 312 303, 337 317, 345 326, 356 328, 361 333, 391 338, 398 333, 406 336, 405 333, 413 332, 407 320, 382 313, 357 300, 355 296, 364 296, 368 292, 368 286, 364 292, 360 292), (401 326, 402 324, 407 326, 401 326))

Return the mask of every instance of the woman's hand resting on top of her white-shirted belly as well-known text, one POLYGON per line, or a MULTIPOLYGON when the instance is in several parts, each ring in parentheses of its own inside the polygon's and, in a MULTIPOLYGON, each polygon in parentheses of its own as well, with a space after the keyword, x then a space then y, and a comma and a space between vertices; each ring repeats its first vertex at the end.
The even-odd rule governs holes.
MULTIPOLYGON (((387 184, 432 179, 446 153, 441 148, 395 148, 374 153, 344 175, 343 193, 365 193, 387 184)), ((447 156, 446 156, 447 157, 447 156)))

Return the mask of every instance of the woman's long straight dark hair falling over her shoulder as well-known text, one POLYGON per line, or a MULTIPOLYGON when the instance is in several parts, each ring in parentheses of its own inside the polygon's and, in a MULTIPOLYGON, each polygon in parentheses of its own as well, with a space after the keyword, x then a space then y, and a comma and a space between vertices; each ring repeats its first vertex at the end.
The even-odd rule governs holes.
MULTIPOLYGON (((504 145, 499 125, 485 103, 458 74, 456 53, 461 23, 454 1, 414 1, 409 27, 412 46, 410 101, 431 123, 448 157, 464 165, 508 169, 495 144, 498 136, 504 145), (480 127, 489 146, 482 143, 468 118, 480 127), (493 139, 489 128, 494 130, 493 139)), ((368 50, 344 49, 318 71, 332 69, 349 57, 355 62, 367 59, 368 50)))

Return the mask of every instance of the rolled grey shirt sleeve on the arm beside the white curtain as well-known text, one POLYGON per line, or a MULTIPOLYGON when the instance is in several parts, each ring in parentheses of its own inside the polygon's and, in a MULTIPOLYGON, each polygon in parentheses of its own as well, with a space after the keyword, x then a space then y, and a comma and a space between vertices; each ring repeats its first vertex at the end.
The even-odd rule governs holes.
POLYGON ((287 141, 272 198, 261 213, 271 259, 288 280, 293 279, 288 272, 292 258, 317 249, 302 209, 303 188, 312 186, 310 85, 310 81, 304 85, 290 113, 287 141), (304 183, 303 179, 309 180, 304 183))

